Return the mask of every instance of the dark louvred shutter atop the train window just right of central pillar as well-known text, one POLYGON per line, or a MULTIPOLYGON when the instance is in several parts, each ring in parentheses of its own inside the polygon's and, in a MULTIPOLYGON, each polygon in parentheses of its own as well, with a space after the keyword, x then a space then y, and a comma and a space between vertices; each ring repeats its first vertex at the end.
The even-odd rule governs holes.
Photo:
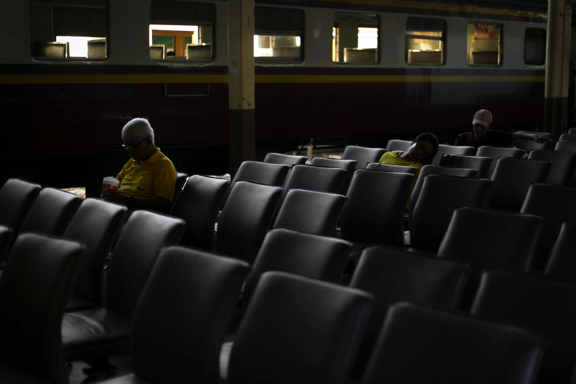
POLYGON ((301 9, 254 7, 254 33, 304 32, 304 12, 301 9))

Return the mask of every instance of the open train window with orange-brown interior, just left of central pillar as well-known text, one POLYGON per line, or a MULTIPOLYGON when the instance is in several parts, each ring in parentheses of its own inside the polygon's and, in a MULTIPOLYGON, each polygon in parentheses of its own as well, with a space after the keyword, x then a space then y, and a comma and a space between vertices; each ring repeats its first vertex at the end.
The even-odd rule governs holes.
POLYGON ((150 2, 149 43, 153 60, 214 59, 215 8, 183 0, 150 2))

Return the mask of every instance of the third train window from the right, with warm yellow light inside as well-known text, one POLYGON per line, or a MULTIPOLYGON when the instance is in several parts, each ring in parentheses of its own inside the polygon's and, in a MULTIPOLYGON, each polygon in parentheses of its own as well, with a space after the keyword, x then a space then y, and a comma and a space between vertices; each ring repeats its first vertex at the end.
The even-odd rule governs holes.
POLYGON ((445 20, 408 17, 406 20, 406 62, 408 64, 444 64, 445 37, 445 20))

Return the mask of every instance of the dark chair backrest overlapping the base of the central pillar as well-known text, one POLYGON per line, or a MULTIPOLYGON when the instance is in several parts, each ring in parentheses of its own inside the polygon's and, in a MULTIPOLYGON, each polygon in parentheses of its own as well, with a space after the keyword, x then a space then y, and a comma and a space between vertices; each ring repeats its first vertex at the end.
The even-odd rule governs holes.
POLYGON ((226 192, 224 200, 228 200, 228 195, 237 181, 251 181, 252 183, 278 185, 282 187, 290 167, 284 164, 261 163, 259 161, 244 161, 240 164, 236 176, 232 179, 226 192))

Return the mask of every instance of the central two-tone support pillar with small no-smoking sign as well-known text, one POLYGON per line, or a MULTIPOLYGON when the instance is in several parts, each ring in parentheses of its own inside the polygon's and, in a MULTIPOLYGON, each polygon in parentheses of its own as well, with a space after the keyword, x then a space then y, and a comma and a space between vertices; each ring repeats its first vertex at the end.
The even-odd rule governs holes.
POLYGON ((254 0, 228 1, 230 174, 256 158, 254 111, 254 0))

